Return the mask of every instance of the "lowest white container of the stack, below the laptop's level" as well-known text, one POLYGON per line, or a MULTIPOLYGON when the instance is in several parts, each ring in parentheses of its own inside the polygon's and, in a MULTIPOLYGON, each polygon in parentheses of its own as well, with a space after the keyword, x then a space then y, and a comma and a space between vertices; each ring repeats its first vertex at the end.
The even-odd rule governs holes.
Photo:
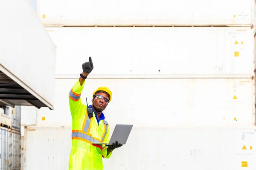
MULTIPOLYGON (((26 170, 68 168, 71 128, 31 127, 27 133, 26 170)), ((255 159, 255 127, 135 126, 127 143, 103 161, 104 170, 255 170, 255 159)))

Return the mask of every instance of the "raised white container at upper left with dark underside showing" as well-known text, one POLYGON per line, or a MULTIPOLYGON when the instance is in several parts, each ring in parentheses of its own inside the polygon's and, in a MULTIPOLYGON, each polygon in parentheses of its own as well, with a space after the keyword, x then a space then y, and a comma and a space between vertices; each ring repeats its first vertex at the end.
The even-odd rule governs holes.
POLYGON ((54 43, 29 1, 1 0, 0 11, 0 103, 53 109, 54 43))

